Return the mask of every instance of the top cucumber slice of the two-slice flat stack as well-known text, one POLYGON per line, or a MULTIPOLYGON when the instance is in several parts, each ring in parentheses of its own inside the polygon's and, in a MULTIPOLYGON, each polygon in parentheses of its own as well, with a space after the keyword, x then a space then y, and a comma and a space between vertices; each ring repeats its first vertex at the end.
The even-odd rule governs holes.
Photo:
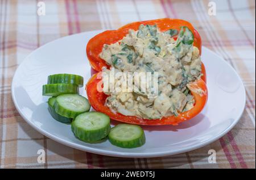
POLYGON ((74 85, 82 87, 84 86, 84 78, 75 74, 53 74, 48 76, 47 83, 72 83, 74 85))

